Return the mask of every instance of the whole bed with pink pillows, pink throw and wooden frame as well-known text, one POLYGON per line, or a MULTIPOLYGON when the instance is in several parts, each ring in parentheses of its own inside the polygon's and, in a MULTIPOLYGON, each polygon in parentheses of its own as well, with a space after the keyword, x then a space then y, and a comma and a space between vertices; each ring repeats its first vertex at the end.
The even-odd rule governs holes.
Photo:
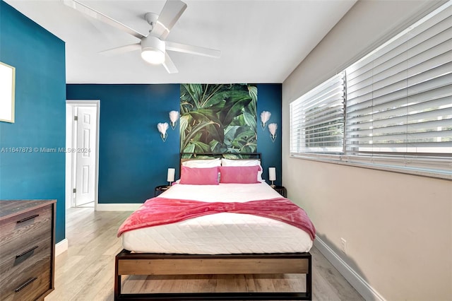
MULTIPOLYGON (((292 213, 287 215, 285 206, 295 205, 261 182, 260 155, 242 154, 242 157, 246 155, 257 158, 200 160, 197 156, 186 160, 191 155, 181 155, 179 182, 157 198, 146 201, 119 228, 124 249, 115 258, 115 300, 311 300, 309 249, 315 237, 314 226, 301 225, 302 230, 300 225, 290 224, 297 218, 292 213), (253 165, 256 160, 259 168, 246 166, 256 166, 253 165), (215 176, 213 167, 218 162, 220 167, 215 176), (254 179, 256 170, 257 179, 254 179), (164 216, 157 223, 161 210, 167 212, 179 206, 185 206, 183 214, 164 216), (261 213, 263 207, 268 212, 261 213), (206 213, 209 210, 220 212, 206 213), (278 216, 279 211, 282 214, 278 216), (305 274, 306 290, 299 293, 121 293, 121 276, 125 275, 277 273, 305 274)), ((209 155, 218 156, 228 157, 209 155)))

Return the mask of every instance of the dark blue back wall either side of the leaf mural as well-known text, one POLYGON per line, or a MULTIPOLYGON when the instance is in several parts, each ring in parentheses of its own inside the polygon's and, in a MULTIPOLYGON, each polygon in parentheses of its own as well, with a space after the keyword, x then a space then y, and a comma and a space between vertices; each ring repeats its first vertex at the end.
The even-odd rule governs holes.
MULTIPOLYGON (((270 122, 280 125, 281 84, 257 86, 258 116, 270 110, 270 122)), ((176 168, 179 175, 179 127, 168 129, 165 143, 157 131, 157 123, 169 123, 169 111, 179 110, 179 84, 69 84, 66 98, 100 100, 99 203, 143 203, 154 196, 155 186, 167 184, 167 168, 176 168)), ((269 135, 258 126, 263 177, 275 166, 280 183, 280 134, 275 143, 269 135)))

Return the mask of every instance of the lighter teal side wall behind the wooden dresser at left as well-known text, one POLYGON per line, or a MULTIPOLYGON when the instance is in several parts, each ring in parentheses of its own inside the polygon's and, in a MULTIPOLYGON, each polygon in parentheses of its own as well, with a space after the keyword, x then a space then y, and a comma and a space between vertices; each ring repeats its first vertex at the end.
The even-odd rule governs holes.
POLYGON ((65 237, 64 42, 0 1, 0 61, 16 67, 15 122, 0 122, 0 199, 57 199, 65 237))

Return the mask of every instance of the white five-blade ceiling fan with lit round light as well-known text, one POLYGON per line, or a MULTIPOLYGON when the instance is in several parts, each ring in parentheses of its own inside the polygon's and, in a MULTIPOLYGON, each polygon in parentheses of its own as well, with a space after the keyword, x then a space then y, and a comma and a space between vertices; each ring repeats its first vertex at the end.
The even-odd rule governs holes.
POLYGON ((191 46, 180 44, 177 42, 170 42, 165 40, 169 34, 169 30, 173 28, 177 20, 179 20, 182 13, 186 9, 186 4, 180 0, 167 0, 163 6, 160 15, 156 13, 145 13, 144 18, 150 25, 148 35, 138 33, 138 31, 129 28, 129 26, 120 23, 109 16, 96 11, 78 0, 62 0, 64 4, 71 8, 85 13, 86 15, 100 20, 104 23, 114 26, 119 30, 123 30, 129 35, 138 37, 141 42, 131 45, 124 45, 121 47, 108 49, 100 53, 107 55, 121 54, 124 52, 131 52, 141 49, 141 57, 150 64, 162 64, 168 73, 177 73, 177 68, 172 59, 169 57, 167 50, 174 52, 184 52, 187 54, 197 54, 204 57, 220 57, 220 50, 209 49, 198 46, 191 46))

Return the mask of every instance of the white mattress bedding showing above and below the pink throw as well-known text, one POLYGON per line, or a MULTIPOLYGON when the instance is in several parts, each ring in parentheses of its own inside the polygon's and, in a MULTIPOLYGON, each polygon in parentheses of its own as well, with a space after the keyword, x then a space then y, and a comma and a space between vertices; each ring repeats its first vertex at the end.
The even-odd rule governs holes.
MULTIPOLYGON (((266 183, 176 184, 160 194, 168 199, 254 201, 280 196, 266 183)), ((242 213, 217 213, 124 232, 124 249, 176 254, 243 254, 309 252, 311 237, 279 220, 242 213)))

